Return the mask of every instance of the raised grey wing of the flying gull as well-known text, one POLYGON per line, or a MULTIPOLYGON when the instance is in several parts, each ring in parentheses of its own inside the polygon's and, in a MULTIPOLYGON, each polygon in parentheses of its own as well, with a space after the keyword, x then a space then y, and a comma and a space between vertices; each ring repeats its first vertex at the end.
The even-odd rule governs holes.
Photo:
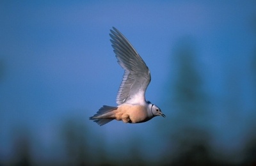
POLYGON ((118 105, 145 101, 145 91, 150 83, 150 71, 131 43, 115 27, 110 30, 112 47, 118 63, 124 68, 124 77, 116 96, 118 105))

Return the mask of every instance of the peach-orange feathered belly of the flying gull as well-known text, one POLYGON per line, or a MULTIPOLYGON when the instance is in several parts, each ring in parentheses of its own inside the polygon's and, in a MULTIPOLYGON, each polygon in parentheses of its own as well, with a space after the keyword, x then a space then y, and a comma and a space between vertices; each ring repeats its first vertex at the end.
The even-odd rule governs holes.
POLYGON ((148 120, 147 108, 143 105, 120 105, 116 112, 116 120, 125 123, 141 123, 148 120))

